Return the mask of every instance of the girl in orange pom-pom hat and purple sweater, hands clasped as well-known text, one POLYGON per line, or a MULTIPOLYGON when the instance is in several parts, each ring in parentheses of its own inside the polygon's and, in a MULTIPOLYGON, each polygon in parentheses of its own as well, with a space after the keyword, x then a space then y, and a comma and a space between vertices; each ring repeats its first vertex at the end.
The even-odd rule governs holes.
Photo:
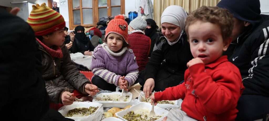
POLYGON ((93 84, 109 91, 134 84, 139 71, 133 50, 128 46, 128 24, 122 15, 117 15, 108 23, 104 43, 94 49, 93 84))

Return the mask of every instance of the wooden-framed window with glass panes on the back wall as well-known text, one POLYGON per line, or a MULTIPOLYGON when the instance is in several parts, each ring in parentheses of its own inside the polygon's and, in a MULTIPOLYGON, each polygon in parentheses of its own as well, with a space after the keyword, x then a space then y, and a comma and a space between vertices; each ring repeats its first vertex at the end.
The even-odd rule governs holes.
POLYGON ((69 28, 96 26, 99 18, 125 13, 125 0, 69 0, 69 28))

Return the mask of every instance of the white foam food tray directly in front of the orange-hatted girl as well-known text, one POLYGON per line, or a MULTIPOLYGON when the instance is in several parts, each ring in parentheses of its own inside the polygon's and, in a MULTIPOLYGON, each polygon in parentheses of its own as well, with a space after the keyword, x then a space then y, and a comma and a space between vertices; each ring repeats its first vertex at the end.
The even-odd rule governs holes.
POLYGON ((102 103, 103 104, 103 107, 104 108, 112 108, 112 107, 118 107, 118 108, 124 108, 125 106, 128 106, 129 103, 131 102, 132 100, 132 93, 128 92, 128 93, 123 93, 123 96, 126 96, 126 95, 129 95, 130 97, 128 98, 127 101, 97 101, 96 98, 97 97, 103 97, 103 96, 106 96, 106 95, 109 95, 109 96, 118 96, 118 95, 122 95, 121 92, 108 92, 108 93, 100 93, 98 95, 96 95, 94 98, 93 98, 93 102, 97 102, 97 103, 102 103))

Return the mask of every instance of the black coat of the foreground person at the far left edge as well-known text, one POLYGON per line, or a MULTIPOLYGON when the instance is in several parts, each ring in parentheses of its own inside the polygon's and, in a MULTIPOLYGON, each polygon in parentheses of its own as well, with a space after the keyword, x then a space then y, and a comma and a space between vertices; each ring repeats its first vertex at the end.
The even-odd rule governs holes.
POLYGON ((0 115, 9 120, 40 120, 49 100, 34 31, 2 9, 0 25, 0 115))

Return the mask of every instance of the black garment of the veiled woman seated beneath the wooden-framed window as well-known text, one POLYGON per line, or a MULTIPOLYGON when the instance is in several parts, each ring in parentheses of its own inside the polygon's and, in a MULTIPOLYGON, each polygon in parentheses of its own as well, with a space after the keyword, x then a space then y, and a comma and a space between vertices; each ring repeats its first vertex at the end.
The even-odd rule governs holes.
POLYGON ((90 38, 86 37, 86 39, 88 40, 88 42, 86 44, 83 44, 81 41, 79 41, 75 37, 73 45, 70 48, 71 53, 80 52, 80 53, 84 54, 84 52, 87 51, 87 50, 93 51, 94 46, 93 46, 93 44, 91 44, 90 38))

